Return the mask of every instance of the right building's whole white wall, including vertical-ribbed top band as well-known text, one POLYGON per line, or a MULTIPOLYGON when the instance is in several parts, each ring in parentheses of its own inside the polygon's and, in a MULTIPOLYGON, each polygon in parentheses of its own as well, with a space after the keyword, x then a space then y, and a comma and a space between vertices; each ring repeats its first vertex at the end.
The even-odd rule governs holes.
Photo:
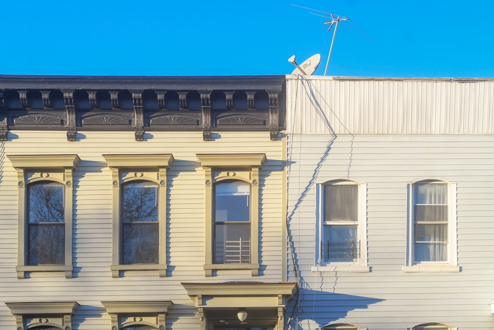
MULTIPOLYGON (((350 323, 404 330, 428 322, 458 330, 494 329, 488 304, 494 298, 493 89, 491 81, 288 80, 288 228, 303 288, 292 323, 297 329, 350 323), (428 101, 406 99, 411 90, 422 91, 420 97, 428 101), (447 93, 451 96, 443 99, 447 93), (365 111, 359 113, 356 104, 365 111), (405 110, 415 116, 429 113, 418 125, 405 110), (471 120, 446 124, 449 113, 471 120), (400 115, 401 122, 391 120, 400 115), (389 125, 375 126, 369 118, 389 125), (311 271, 316 185, 332 179, 366 184, 369 273, 311 271), (460 272, 402 271, 407 185, 424 179, 456 184, 460 272)), ((293 281, 290 258, 288 281, 293 281)))

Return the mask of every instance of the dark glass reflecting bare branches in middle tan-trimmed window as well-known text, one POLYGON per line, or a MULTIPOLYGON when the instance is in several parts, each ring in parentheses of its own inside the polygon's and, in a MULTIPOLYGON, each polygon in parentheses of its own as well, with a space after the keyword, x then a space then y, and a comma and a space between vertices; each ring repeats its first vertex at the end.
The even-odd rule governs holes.
POLYGON ((122 191, 122 264, 157 264, 158 185, 132 182, 125 184, 122 191))

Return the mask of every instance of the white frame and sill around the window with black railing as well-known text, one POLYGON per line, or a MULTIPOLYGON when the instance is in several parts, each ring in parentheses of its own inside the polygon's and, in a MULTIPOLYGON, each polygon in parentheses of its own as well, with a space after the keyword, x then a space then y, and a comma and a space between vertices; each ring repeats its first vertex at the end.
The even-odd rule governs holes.
MULTIPOLYGON (((313 272, 364 272, 368 273, 370 267, 367 261, 367 184, 348 179, 334 179, 319 183, 316 186, 316 253, 313 272), (356 262, 329 262, 323 263, 321 255, 321 241, 324 228, 324 187, 326 185, 357 185, 357 239, 360 241, 359 259, 356 262)), ((354 225, 355 222, 338 222, 338 225, 354 225)))

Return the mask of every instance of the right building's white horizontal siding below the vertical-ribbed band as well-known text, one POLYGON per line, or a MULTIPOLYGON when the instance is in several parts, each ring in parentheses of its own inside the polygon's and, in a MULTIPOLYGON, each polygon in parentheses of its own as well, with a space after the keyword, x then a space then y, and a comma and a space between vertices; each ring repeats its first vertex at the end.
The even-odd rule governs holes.
MULTIPOLYGON (((293 324, 316 329, 350 323, 407 329, 442 322, 493 329, 494 135, 288 134, 288 228, 303 293, 293 324), (316 185, 333 179, 367 184, 370 273, 312 272, 316 185), (404 273, 407 185, 455 183, 461 272, 404 273)), ((288 254, 289 278, 294 281, 288 254)))

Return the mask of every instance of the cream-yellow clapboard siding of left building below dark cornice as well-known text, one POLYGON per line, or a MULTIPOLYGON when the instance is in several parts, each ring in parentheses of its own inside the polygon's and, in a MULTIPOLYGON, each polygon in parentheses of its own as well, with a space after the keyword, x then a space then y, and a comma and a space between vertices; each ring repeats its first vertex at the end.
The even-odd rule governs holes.
MULTIPOLYGON (((0 329, 14 329, 14 317, 3 302, 77 301, 75 330, 107 330, 110 316, 101 301, 171 300, 167 329, 199 329, 197 310, 181 282, 228 282, 284 280, 282 253, 286 237, 282 203, 285 187, 285 149, 281 139, 270 141, 269 133, 228 133, 203 141, 202 133, 149 132, 147 141, 134 141, 133 132, 79 132, 78 141, 66 141, 65 132, 9 134, 11 141, 0 146, 0 329), (204 276, 204 171, 196 153, 266 153, 260 171, 259 253, 260 276, 247 271, 223 271, 204 276), (31 273, 18 280, 17 264, 17 177, 5 155, 78 154, 81 162, 74 173, 74 278, 63 273, 31 273), (114 279, 112 253, 112 176, 102 154, 172 153, 174 162, 167 174, 166 278, 157 271, 125 272, 114 279)), ((164 251, 161 251, 162 253, 164 251)))

